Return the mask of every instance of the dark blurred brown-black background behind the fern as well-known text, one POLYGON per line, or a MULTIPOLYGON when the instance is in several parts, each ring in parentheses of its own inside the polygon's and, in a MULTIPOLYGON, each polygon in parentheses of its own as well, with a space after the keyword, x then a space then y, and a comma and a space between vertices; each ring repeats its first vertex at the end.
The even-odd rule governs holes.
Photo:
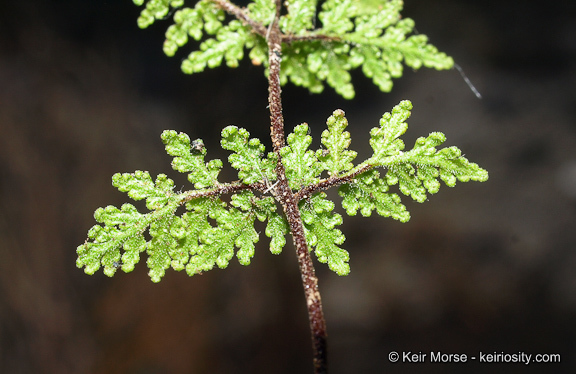
MULTIPOLYGON (((331 372, 573 373, 576 370, 576 12, 570 1, 406 0, 456 70, 407 69, 392 93, 354 75, 357 96, 284 89, 286 126, 318 146, 336 108, 352 147, 402 99, 408 146, 446 134, 486 183, 404 199, 409 223, 344 217, 352 271, 318 264, 331 372), (559 353, 561 364, 391 364, 388 354, 559 353)), ((186 76, 162 53, 168 22, 141 31, 122 1, 0 3, 0 372, 308 373, 311 350, 293 248, 262 235, 251 266, 160 284, 75 266, 115 172, 170 173, 163 129, 218 153, 229 124, 268 138, 266 81, 244 61, 186 76)), ((184 48, 185 52, 190 51, 184 48)), ((224 178, 234 179, 231 172, 224 178)), ((186 188, 186 187, 184 187, 186 188)), ((341 210, 341 208, 339 208, 341 210)))

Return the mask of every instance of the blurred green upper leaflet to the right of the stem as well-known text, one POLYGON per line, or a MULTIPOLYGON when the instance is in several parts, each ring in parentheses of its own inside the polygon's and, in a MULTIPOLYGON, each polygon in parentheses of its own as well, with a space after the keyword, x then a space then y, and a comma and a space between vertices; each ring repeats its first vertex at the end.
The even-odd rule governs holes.
POLYGON ((311 92, 322 91, 319 82, 325 81, 350 99, 355 92, 349 71, 360 66, 384 92, 392 89, 392 78, 402 75, 402 63, 413 69, 452 68, 452 58, 429 44, 425 35, 409 36, 414 21, 400 17, 402 6, 401 0, 325 1, 318 14, 322 26, 308 34, 321 41, 285 46, 285 54, 292 59, 299 54, 306 55, 306 59, 300 59, 298 67, 287 69, 284 81, 289 79, 311 92), (302 44, 310 44, 312 50, 302 44))

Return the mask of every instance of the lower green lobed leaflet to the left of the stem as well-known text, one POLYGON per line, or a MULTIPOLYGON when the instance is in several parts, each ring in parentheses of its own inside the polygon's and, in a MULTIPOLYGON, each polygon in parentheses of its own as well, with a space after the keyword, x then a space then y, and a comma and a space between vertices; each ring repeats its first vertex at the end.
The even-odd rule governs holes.
MULTIPOLYGON (((252 160, 255 149, 263 151, 259 141, 252 139, 248 142, 250 146, 246 146, 248 133, 231 127, 222 135, 223 146, 239 152, 230 156, 234 166, 254 171, 249 168, 260 165, 270 174, 270 168, 266 166, 271 162, 269 159, 257 163, 252 160)), ((196 189, 175 192, 174 182, 164 174, 155 182, 148 172, 115 174, 113 185, 134 200, 145 199, 150 212, 142 214, 131 204, 124 204, 121 209, 108 206, 96 210, 94 217, 100 225, 92 227, 87 241, 78 247, 78 267, 93 274, 104 266, 108 276, 114 275, 120 266, 123 271, 130 272, 139 261, 140 253, 146 251, 149 275, 158 282, 169 267, 177 271, 186 269, 190 275, 210 270, 214 265, 225 268, 235 248, 239 262, 248 265, 254 255, 254 243, 259 238, 254 230, 256 218, 269 220, 266 234, 273 237, 271 251, 281 252, 288 229, 283 217, 276 212, 272 197, 257 198, 251 191, 239 191, 232 194, 230 203, 221 201, 214 196, 214 191, 234 190, 238 185, 216 182, 222 163, 212 160, 204 164, 206 149, 202 141, 191 144, 186 134, 175 131, 164 131, 162 140, 166 152, 174 156, 173 168, 182 173, 190 172, 188 179, 196 189), (177 210, 183 205, 186 211, 178 216, 177 210), (145 237, 146 230, 150 239, 145 237)), ((240 172, 240 175, 245 178, 242 183, 248 184, 254 179, 254 174, 240 172)), ((264 175, 259 173, 258 176, 264 175)))

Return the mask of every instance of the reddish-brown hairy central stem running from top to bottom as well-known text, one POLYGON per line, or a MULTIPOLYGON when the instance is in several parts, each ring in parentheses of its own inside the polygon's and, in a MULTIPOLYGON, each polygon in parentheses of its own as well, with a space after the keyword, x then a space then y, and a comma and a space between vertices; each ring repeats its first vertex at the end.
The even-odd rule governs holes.
POLYGON ((304 226, 298 209, 298 199, 288 185, 286 172, 280 149, 285 146, 284 140, 284 118, 282 115, 282 100, 280 87, 280 63, 282 61, 282 34, 278 26, 280 17, 281 2, 276 1, 276 17, 268 30, 268 104, 270 107, 270 135, 274 152, 278 156, 276 164, 276 175, 278 184, 274 191, 276 199, 282 205, 284 214, 290 226, 290 232, 296 247, 300 275, 306 296, 308 307, 308 318, 312 332, 312 346, 314 350, 314 372, 316 374, 327 373, 326 362, 326 321, 322 311, 322 300, 318 291, 318 278, 314 271, 314 264, 310 257, 310 251, 304 235, 304 226))

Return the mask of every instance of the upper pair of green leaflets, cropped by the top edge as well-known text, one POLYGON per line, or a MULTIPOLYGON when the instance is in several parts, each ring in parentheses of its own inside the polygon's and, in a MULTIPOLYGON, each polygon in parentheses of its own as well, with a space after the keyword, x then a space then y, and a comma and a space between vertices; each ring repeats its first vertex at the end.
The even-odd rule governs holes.
MULTIPOLYGON (((134 2, 143 5, 144 0, 134 2)), ((182 6, 183 0, 148 0, 138 25, 148 27, 165 18, 171 8, 182 6)), ((315 0, 289 0, 285 6, 287 12, 279 20, 283 33, 282 84, 291 81, 319 93, 325 82, 343 97, 352 98, 355 91, 350 71, 359 67, 380 90, 388 92, 392 78, 402 76, 403 63, 412 69, 453 66, 453 60, 429 44, 425 35, 412 34, 414 21, 400 16, 402 0, 328 0, 320 7, 315 0), (318 26, 316 14, 321 23, 318 26)), ((254 64, 267 66, 267 35, 263 30, 274 20, 274 1, 255 0, 243 11, 261 26, 259 30, 236 19, 228 20, 209 0, 177 10, 166 31, 164 52, 173 56, 190 37, 204 39, 182 62, 187 74, 218 67, 224 61, 237 67, 246 49, 254 64)))

